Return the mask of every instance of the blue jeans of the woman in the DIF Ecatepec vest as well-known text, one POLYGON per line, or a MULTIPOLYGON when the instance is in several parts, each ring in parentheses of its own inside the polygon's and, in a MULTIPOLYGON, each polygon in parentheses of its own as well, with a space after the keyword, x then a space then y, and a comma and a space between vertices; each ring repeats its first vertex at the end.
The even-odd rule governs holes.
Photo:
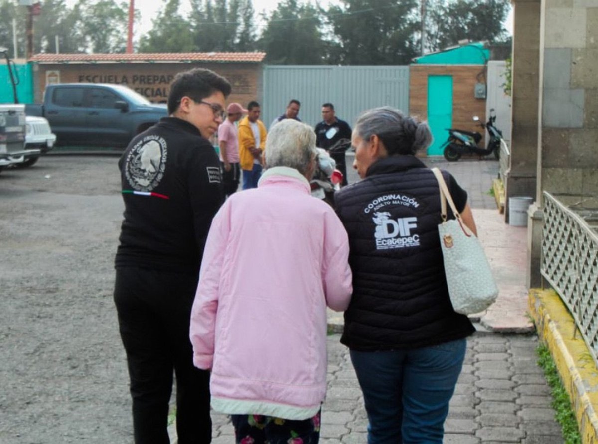
POLYGON ((466 340, 414 350, 351 350, 368 414, 368 444, 442 444, 466 340))

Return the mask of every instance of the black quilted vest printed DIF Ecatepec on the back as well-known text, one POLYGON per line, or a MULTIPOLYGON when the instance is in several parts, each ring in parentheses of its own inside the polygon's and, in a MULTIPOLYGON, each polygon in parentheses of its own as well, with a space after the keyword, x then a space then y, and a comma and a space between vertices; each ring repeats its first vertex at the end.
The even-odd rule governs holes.
MULTIPOLYGON (((467 193, 449 173, 443 175, 462 211, 467 193)), ((438 182, 420 160, 377 161, 364 180, 337 192, 335 206, 349 234, 353 271, 344 345, 359 351, 411 349, 475 331, 450 303, 437 228, 438 182)))

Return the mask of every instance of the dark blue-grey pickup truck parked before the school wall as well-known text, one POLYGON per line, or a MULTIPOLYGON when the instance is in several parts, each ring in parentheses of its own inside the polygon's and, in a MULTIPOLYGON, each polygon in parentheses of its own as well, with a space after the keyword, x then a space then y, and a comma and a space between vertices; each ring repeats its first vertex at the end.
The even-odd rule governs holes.
POLYGON ((126 146, 166 117, 167 108, 124 85, 64 83, 47 85, 44 103, 26 105, 25 112, 48 120, 57 145, 126 146))

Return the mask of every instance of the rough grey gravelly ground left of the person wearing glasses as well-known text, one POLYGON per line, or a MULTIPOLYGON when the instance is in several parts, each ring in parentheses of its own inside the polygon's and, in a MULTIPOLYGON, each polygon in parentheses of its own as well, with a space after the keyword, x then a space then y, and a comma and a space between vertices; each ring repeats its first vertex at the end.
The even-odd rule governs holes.
POLYGON ((130 443, 117 157, 0 174, 0 442, 130 443))

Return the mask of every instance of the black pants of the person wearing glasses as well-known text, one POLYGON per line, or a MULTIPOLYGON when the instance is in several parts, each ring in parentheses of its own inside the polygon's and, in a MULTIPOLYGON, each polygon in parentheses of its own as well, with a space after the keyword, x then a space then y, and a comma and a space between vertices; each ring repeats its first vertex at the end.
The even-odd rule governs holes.
POLYGON ((209 372, 193 365, 189 340, 197 276, 117 268, 114 302, 127 353, 136 444, 168 443, 167 417, 176 375, 179 444, 209 443, 209 372))

